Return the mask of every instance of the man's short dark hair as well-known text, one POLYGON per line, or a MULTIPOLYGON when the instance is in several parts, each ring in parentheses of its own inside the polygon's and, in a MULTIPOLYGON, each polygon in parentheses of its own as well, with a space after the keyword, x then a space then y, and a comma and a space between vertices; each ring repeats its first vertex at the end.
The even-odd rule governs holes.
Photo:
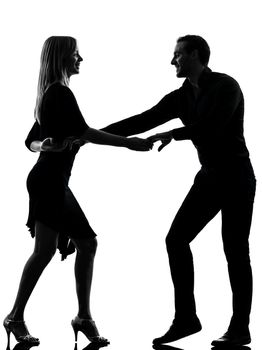
POLYGON ((210 57, 210 48, 205 39, 199 35, 185 35, 177 39, 177 42, 186 42, 185 50, 191 53, 194 50, 198 51, 200 62, 207 66, 210 57))

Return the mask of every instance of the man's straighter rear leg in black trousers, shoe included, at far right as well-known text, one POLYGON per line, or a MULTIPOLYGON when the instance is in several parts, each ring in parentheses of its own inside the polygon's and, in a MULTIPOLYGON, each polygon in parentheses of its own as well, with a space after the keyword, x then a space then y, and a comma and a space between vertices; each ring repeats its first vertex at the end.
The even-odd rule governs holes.
POLYGON ((249 315, 252 302, 252 270, 249 257, 249 233, 255 195, 255 181, 242 181, 228 191, 222 207, 222 236, 233 294, 233 316, 227 333, 217 343, 250 343, 249 315))

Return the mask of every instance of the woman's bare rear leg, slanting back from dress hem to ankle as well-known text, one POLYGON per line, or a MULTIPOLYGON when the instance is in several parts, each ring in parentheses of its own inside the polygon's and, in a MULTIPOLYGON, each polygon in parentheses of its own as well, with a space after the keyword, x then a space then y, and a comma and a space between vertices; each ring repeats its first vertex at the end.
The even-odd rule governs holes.
POLYGON ((35 225, 35 247, 33 254, 25 264, 17 297, 9 318, 23 320, 27 301, 43 270, 55 254, 58 233, 41 222, 35 225))

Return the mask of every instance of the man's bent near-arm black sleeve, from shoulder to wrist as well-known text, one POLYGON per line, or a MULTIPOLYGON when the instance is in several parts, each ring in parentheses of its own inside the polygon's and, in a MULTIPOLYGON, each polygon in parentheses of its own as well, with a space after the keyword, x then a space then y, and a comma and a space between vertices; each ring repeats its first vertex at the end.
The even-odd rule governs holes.
POLYGON ((212 106, 195 123, 174 129, 173 137, 177 141, 213 138, 225 130, 237 108, 244 108, 242 91, 233 78, 223 78, 212 91, 212 106))

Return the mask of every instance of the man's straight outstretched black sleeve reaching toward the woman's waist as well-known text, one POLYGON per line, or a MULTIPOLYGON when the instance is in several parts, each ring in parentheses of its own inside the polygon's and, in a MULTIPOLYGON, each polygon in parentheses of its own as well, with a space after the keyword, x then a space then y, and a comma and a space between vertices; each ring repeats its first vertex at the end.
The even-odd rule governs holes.
POLYGON ((141 134, 177 118, 179 113, 179 90, 163 97, 149 110, 113 123, 102 130, 120 136, 141 134))

